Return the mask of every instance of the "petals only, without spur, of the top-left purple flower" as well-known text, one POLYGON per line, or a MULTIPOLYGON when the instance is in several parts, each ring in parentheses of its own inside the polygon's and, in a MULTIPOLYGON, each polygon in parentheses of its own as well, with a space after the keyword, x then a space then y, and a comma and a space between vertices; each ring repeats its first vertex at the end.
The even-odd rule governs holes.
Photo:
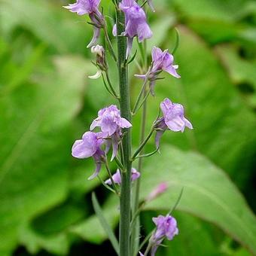
POLYGON ((75 4, 69 4, 63 7, 78 15, 92 14, 98 11, 99 2, 100 0, 78 0, 75 4))

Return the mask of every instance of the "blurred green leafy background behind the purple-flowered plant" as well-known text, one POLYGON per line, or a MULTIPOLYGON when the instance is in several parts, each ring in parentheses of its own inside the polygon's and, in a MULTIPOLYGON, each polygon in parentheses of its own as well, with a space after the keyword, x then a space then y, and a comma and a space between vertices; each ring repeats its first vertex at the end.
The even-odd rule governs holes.
MULTIPOLYGON (((153 227, 151 217, 167 212, 184 187, 174 213, 180 234, 158 255, 256 254, 256 2, 153 2, 148 53, 153 45, 171 50, 176 26, 181 79, 166 76, 157 83, 148 128, 159 102, 169 97, 184 104, 194 130, 165 133, 161 154, 145 160, 142 197, 161 181, 169 182, 169 190, 143 212, 142 236, 153 227)), ((96 190, 112 227, 117 202, 98 180, 87 181, 93 161, 71 156, 72 143, 98 109, 114 101, 100 80, 87 79, 96 72, 86 49, 92 28, 62 8, 68 3, 0 0, 1 256, 114 255, 90 194, 96 190)), ((111 30, 113 8, 107 0, 102 6, 111 30)), ((134 72, 133 63, 133 98, 141 82, 134 72)), ((151 141, 148 151, 153 147, 151 141)))

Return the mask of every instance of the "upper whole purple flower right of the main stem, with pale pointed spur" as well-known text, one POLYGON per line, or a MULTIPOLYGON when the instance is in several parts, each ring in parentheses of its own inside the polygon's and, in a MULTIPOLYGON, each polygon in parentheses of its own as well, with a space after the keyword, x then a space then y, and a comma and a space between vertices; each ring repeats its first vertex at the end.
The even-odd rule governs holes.
POLYGON ((175 78, 181 78, 176 72, 178 65, 173 65, 174 58, 172 54, 168 53, 168 50, 162 51, 160 48, 153 47, 152 49, 152 65, 145 75, 136 75, 137 78, 148 79, 150 82, 151 94, 154 95, 154 85, 157 80, 157 76, 160 72, 165 71, 175 78))

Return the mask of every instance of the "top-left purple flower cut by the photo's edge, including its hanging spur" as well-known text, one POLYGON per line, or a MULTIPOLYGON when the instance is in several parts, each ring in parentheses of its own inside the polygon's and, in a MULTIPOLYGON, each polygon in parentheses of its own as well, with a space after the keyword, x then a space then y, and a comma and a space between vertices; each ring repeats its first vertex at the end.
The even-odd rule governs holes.
POLYGON ((93 23, 93 39, 87 45, 87 48, 96 44, 100 35, 100 29, 105 26, 105 19, 98 10, 99 2, 100 0, 77 0, 75 4, 63 6, 78 15, 89 14, 90 20, 93 23))

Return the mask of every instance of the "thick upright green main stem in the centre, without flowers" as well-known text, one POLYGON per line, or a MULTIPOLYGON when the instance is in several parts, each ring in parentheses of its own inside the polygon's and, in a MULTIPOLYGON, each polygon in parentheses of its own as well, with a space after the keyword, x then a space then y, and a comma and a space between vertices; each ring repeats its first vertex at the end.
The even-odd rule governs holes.
MULTIPOLYGON (((120 0, 119 0, 120 2, 120 0)), ((124 31, 124 15, 123 12, 117 10, 117 35, 121 35, 124 31)), ((130 111, 130 87, 128 84, 128 70, 125 65, 126 60, 126 37, 117 36, 118 49, 118 72, 120 87, 120 112, 121 116, 131 121, 130 111)), ((123 130, 123 167, 122 183, 120 191, 120 256, 130 256, 130 204, 131 204, 131 131, 123 130)))

